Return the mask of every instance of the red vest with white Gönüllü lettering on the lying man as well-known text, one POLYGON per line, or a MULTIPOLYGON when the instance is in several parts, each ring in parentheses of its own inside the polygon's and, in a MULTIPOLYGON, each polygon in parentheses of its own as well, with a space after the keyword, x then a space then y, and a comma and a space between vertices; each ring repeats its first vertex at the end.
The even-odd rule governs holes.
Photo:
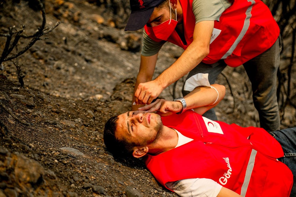
POLYGON ((281 145, 262 128, 211 121, 191 110, 162 120, 163 125, 194 139, 145 157, 147 169, 162 185, 209 178, 242 196, 289 196, 292 172, 277 161, 284 156, 281 145))

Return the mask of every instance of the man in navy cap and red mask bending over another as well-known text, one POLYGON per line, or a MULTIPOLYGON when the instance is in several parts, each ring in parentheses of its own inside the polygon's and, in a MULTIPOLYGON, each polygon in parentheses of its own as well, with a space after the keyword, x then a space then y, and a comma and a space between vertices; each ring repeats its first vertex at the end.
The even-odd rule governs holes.
MULTIPOLYGON (((150 104, 170 84, 189 72, 183 96, 210 84, 229 65, 243 65, 252 83, 253 100, 265 130, 280 127, 276 73, 281 42, 279 27, 260 0, 130 0, 131 16, 125 30, 144 27, 141 63, 133 101, 150 104), (185 51, 152 80, 158 51, 169 41, 185 51)), ((204 116, 217 120, 215 112, 204 116)))

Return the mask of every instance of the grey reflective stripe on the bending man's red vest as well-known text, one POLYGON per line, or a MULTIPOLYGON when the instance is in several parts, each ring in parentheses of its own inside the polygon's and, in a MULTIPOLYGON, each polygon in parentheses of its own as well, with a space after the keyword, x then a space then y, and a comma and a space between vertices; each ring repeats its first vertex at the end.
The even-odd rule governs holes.
POLYGON ((249 29, 249 26, 250 26, 250 18, 252 17, 251 10, 252 10, 253 5, 255 4, 255 1, 254 0, 247 0, 247 1, 248 2, 251 2, 251 5, 250 5, 250 7, 247 8, 246 18, 244 20, 244 25, 243 25, 242 31, 239 33, 239 36, 237 37, 237 39, 234 41, 234 43, 232 44, 232 46, 230 47, 230 49, 226 52, 226 54, 224 54, 222 56, 221 59, 226 59, 228 56, 230 56, 232 54, 232 52, 234 51, 234 49, 237 48, 237 45, 239 44, 239 42, 242 40, 242 38, 246 34, 247 30, 249 29))

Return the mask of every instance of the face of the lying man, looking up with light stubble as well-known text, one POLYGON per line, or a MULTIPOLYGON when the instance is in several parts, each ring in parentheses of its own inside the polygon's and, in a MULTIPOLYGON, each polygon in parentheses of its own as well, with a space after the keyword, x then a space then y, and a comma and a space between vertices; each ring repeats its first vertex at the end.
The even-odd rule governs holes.
POLYGON ((144 111, 120 114, 115 137, 138 146, 147 146, 157 139, 163 124, 160 115, 144 111))

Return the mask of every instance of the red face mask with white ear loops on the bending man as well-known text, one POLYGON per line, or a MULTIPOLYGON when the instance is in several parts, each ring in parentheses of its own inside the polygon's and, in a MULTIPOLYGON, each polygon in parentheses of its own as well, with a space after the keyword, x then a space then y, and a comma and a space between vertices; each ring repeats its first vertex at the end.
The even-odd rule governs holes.
MULTIPOLYGON (((170 4, 170 3, 169 3, 170 4)), ((176 12, 176 20, 172 20, 172 13, 170 11, 170 20, 167 20, 155 27, 147 27, 150 29, 150 32, 153 32, 155 37, 161 40, 168 40, 168 37, 173 33, 177 26, 177 9, 176 12)))

